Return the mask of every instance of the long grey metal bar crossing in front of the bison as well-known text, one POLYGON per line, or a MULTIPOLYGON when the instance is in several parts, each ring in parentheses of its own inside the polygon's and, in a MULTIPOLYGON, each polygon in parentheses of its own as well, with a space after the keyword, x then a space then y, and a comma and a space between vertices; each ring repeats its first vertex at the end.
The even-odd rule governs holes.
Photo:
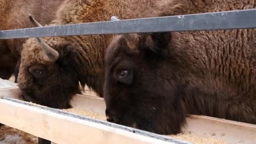
POLYGON ((246 28, 256 28, 256 9, 4 30, 0 39, 246 28))

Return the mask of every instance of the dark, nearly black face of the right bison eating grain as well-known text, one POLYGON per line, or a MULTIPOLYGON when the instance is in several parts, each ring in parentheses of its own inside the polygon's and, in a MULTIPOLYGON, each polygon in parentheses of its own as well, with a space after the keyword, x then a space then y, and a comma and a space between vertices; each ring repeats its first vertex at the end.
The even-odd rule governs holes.
POLYGON ((104 83, 107 120, 154 133, 179 133, 185 119, 183 87, 161 54, 168 34, 162 40, 157 36, 161 35, 117 36, 109 45, 104 83))

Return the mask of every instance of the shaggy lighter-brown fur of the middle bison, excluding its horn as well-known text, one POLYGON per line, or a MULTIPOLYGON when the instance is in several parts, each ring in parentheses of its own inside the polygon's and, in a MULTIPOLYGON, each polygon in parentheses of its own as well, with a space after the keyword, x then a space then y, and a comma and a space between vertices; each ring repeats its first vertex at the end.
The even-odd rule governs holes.
MULTIPOLYGON (((136 11, 152 7, 155 0, 66 0, 52 25, 136 18, 136 11)), ((21 53, 18 78, 24 99, 54 108, 69 108, 69 100, 88 85, 103 96, 104 51, 112 35, 45 37, 59 51, 56 62, 43 59, 34 38, 27 40, 21 53), (36 72, 40 72, 38 75, 36 72)))

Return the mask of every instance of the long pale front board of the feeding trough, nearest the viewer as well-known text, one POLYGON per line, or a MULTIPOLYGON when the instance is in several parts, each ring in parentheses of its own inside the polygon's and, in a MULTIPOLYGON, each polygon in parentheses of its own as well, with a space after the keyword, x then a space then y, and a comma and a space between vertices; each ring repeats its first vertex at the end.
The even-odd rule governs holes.
POLYGON ((0 123, 58 144, 189 144, 5 97, 0 97, 0 114, 0 123))

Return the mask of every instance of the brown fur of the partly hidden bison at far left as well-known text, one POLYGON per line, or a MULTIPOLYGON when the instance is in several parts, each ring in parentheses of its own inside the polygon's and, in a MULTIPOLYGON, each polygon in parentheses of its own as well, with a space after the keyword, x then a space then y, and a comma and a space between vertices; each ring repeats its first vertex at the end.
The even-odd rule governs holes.
MULTIPOLYGON (((29 14, 41 24, 49 24, 55 19, 56 9, 62 1, 0 0, 0 30, 34 27, 29 14)), ((13 74, 24 42, 25 39, 0 40, 0 78, 9 79, 13 74)))

